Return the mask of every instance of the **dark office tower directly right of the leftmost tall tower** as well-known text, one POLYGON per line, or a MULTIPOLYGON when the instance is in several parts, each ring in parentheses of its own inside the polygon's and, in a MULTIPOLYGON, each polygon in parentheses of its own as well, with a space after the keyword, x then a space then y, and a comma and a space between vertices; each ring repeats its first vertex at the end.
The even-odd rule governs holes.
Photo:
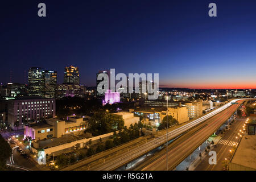
POLYGON ((55 98, 55 90, 57 84, 56 71, 42 71, 43 73, 43 94, 45 98, 55 98))

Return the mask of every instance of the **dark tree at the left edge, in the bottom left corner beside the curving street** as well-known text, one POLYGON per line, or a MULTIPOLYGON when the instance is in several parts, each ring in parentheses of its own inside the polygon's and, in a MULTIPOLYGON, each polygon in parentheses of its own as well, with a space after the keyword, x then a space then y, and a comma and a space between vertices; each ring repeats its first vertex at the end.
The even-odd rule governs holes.
POLYGON ((11 147, 0 135, 0 171, 6 170, 6 160, 11 156, 11 147))

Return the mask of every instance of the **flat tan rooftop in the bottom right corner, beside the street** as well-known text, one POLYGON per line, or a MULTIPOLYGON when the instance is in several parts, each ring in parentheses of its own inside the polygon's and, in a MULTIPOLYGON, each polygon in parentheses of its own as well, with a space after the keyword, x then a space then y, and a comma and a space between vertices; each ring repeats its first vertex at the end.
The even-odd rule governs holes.
POLYGON ((256 169, 256 135, 244 135, 231 163, 256 169))

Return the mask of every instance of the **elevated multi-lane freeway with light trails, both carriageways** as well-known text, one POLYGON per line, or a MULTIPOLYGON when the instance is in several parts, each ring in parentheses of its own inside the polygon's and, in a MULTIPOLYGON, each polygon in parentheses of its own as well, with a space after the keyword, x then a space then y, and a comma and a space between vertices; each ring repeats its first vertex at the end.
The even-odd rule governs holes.
MULTIPOLYGON (((204 140, 207 139, 209 137, 209 135, 214 132, 214 130, 217 130, 218 127, 220 125, 222 125, 222 123, 225 122, 225 120, 228 118, 228 115, 227 115, 228 113, 226 113, 227 112, 226 109, 228 108, 228 106, 229 106, 229 115, 232 115, 234 113, 234 111, 237 109, 237 107, 239 105, 233 105, 232 102, 239 102, 241 104, 242 100, 240 100, 240 99, 232 100, 228 104, 225 104, 224 106, 221 106, 220 108, 212 111, 212 113, 204 115, 203 117, 196 119, 195 121, 192 121, 190 123, 187 123, 186 125, 181 126, 181 127, 177 128, 175 130, 172 130, 168 133, 168 140, 174 139, 177 136, 183 134, 185 131, 192 129, 199 123, 204 122, 207 119, 214 117, 214 115, 215 115, 212 123, 210 123, 210 125, 208 127, 205 127, 199 134, 194 135, 193 137, 189 138, 188 141, 183 142, 182 144, 180 144, 179 147, 176 147, 174 149, 174 151, 176 151, 175 154, 179 154, 179 155, 172 155, 174 157, 172 160, 170 160, 170 168, 169 169, 172 169, 173 168, 172 166, 175 167, 175 165, 177 163, 176 161, 180 161, 180 159, 183 159, 185 157, 185 155, 189 155, 190 154, 189 152, 193 151, 192 148, 195 148, 195 146, 197 147, 196 143, 200 143, 200 142, 203 143, 204 140), (191 140, 193 140, 193 141, 195 140, 195 142, 191 142, 191 140), (184 144, 185 144, 185 146, 184 146, 184 144), (182 149, 180 149, 180 147, 182 147, 182 149), (179 149, 179 152, 177 152, 178 149, 179 149), (185 151, 189 154, 185 153, 185 151), (174 164, 174 162, 175 162, 175 164, 174 164), (174 164, 174 165, 171 166, 171 164, 174 164)), ((154 150, 155 148, 161 146, 165 142, 166 142, 166 135, 162 135, 159 138, 156 138, 154 140, 151 140, 150 142, 143 144, 139 148, 134 148, 133 150, 130 150, 129 152, 124 152, 123 154, 119 155, 117 158, 115 158, 109 162, 102 163, 102 164, 99 164, 98 166, 90 168, 90 170, 110 171, 110 170, 117 169, 118 167, 121 167, 124 164, 127 164, 127 163, 131 162, 132 160, 139 158, 139 156, 143 156, 144 154, 147 154, 147 152, 154 150)), ((174 151, 172 150, 172 152, 174 152, 174 151)), ((172 152, 169 152, 168 155, 171 155, 172 152)), ((152 163, 152 165, 150 165, 144 169, 145 170, 164 170, 164 168, 166 166, 164 164, 164 163, 166 163, 166 162, 164 162, 165 158, 166 158, 166 156, 162 156, 162 158, 158 159, 157 162, 152 163)), ((170 157, 170 158, 172 158, 172 157, 170 157)))

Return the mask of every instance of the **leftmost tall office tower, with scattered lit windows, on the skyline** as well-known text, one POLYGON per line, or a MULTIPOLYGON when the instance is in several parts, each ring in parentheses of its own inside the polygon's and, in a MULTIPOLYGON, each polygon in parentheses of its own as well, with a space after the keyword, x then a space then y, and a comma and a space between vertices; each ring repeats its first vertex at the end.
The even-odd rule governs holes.
POLYGON ((28 96, 43 96, 43 73, 41 68, 28 70, 28 96))

